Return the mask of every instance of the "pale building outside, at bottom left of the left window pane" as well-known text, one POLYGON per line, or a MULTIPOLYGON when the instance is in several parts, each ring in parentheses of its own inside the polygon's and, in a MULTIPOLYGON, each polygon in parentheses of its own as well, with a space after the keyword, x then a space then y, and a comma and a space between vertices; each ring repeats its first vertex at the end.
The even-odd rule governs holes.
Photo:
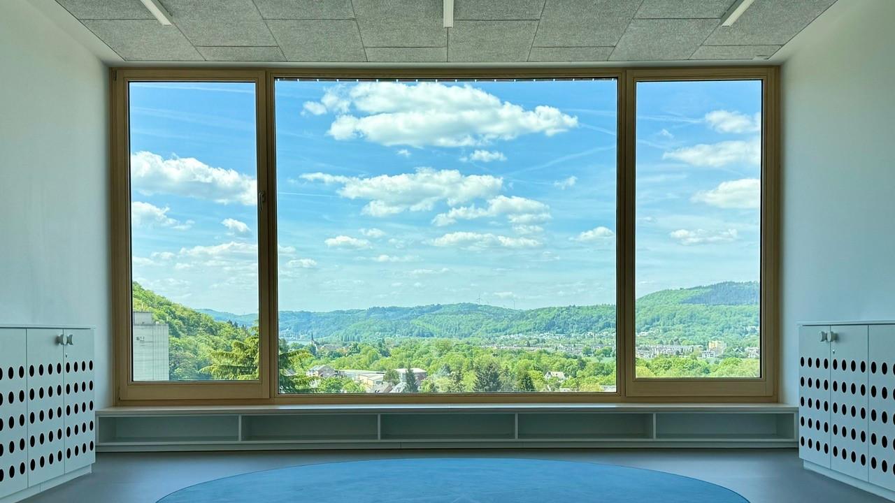
POLYGON ((133 312, 133 380, 170 380, 169 334, 149 311, 133 312))

